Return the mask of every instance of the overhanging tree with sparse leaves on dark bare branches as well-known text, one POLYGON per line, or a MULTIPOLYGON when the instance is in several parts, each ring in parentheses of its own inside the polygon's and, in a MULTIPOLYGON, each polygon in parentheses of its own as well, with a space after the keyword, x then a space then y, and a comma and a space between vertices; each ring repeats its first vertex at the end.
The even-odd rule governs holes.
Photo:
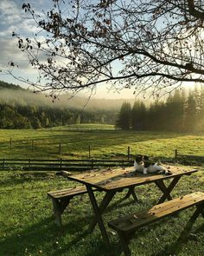
MULTIPOLYGON (((35 89, 77 93, 107 82, 157 95, 182 82, 204 82, 202 0, 53 2, 44 16, 24 3, 39 31, 34 38, 13 33, 40 72, 30 82, 35 89)), ((15 65, 10 62, 10 74, 15 65)))

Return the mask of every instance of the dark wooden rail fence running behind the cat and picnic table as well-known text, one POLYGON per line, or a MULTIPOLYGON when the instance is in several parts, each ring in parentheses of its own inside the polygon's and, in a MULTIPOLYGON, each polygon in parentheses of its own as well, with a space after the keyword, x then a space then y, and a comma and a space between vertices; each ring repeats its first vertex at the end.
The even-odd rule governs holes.
MULTIPOLYGON (((34 171, 61 171, 61 170, 87 170, 97 169, 100 167, 131 167, 130 149, 128 150, 127 160, 105 160, 105 159, 0 159, 0 170, 34 170, 34 171)), ((173 159, 166 159, 164 162, 172 162, 173 159)), ((204 163, 204 156, 179 154, 175 149, 175 161, 182 164, 199 164, 204 163)))

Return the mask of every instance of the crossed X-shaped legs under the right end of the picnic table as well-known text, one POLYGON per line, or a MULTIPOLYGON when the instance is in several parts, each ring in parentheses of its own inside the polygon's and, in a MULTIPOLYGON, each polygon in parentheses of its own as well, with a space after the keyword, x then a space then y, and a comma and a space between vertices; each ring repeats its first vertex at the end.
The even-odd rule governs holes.
POLYGON ((163 196, 158 200, 157 204, 161 204, 164 202, 164 200, 172 200, 172 197, 170 195, 171 191, 174 189, 175 185, 178 183, 178 181, 181 179, 182 176, 175 177, 173 181, 169 184, 169 187, 166 187, 163 181, 155 181, 156 186, 160 188, 163 192, 163 196))

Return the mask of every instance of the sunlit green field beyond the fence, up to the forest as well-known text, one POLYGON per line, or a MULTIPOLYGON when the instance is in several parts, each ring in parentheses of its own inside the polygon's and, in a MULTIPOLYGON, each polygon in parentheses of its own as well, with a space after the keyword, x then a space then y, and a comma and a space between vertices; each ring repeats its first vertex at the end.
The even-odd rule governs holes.
POLYGON ((125 158, 128 147, 132 155, 174 157, 175 148, 181 154, 204 155, 204 133, 122 131, 96 124, 0 130, 0 158, 87 158, 89 146, 92 158, 125 158))

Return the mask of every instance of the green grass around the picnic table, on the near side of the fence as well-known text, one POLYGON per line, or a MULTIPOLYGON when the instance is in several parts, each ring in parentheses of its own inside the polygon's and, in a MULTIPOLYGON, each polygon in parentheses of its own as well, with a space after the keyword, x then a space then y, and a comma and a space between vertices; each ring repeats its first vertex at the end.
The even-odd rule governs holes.
MULTIPOLYGON (((86 233, 92 219, 92 207, 87 195, 76 197, 63 214, 63 229, 54 226, 52 203, 47 198, 50 190, 73 187, 74 183, 50 173, 0 173, 0 255, 48 255, 48 256, 108 256, 99 228, 86 233)), ((175 187, 173 196, 203 190, 204 176, 197 174, 183 177, 175 187)), ((104 214, 105 225, 124 213, 133 213, 156 204, 161 193, 154 185, 137 188, 139 202, 119 200, 117 194, 104 214)), ((97 194, 100 200, 103 193, 97 194)), ((132 255, 174 255, 175 240, 179 237, 193 209, 169 217, 160 223, 150 225, 136 233, 131 241, 132 255)), ((108 229, 112 250, 118 243, 118 236, 108 229)), ((188 240, 182 244, 176 255, 203 255, 204 222, 199 217, 194 223, 188 240)))

